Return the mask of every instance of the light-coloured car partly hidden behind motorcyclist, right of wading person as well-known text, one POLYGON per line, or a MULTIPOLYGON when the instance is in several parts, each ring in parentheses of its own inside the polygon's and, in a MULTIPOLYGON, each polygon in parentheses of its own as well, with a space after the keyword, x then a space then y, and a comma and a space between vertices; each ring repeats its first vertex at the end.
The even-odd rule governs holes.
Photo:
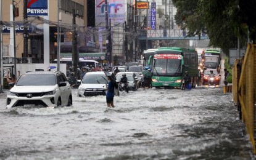
POLYGON ((129 90, 137 90, 138 89, 138 77, 136 77, 136 74, 134 72, 118 72, 115 77, 117 78, 117 81, 121 81, 122 75, 126 74, 126 78, 128 78, 128 87, 129 90))

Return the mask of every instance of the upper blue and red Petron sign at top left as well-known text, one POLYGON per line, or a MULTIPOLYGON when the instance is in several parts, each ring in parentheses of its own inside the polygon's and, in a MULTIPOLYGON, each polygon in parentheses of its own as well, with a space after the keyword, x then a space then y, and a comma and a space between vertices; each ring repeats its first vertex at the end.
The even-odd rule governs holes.
POLYGON ((27 0, 28 16, 47 16, 48 0, 27 0))

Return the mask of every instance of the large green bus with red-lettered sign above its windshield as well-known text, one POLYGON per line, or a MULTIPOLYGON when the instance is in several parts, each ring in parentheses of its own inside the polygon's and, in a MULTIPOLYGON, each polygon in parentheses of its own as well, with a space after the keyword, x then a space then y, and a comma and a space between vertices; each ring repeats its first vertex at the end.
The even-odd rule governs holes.
POLYGON ((182 47, 160 47, 152 63, 152 87, 180 88, 185 71, 197 82, 198 55, 196 50, 182 47))

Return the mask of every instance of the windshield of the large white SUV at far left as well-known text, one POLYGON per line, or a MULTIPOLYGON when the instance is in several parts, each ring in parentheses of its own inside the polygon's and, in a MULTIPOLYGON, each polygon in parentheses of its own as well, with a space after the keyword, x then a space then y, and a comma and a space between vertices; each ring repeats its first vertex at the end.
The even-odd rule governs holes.
POLYGON ((54 86, 54 74, 23 74, 18 79, 16 86, 54 86))

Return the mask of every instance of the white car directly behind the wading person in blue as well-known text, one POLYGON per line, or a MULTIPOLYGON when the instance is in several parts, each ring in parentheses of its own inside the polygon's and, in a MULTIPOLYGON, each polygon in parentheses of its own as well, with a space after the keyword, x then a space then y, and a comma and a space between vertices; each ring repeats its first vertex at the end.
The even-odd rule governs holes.
MULTIPOLYGON (((114 74, 114 73, 110 73, 114 74)), ((115 77, 115 76, 114 76, 115 77)), ((105 95, 105 88, 108 83, 107 76, 104 71, 92 71, 83 76, 83 79, 78 81, 80 86, 78 87, 77 96, 95 96, 105 95)), ((119 90, 115 88, 115 95, 119 96, 119 90)))

